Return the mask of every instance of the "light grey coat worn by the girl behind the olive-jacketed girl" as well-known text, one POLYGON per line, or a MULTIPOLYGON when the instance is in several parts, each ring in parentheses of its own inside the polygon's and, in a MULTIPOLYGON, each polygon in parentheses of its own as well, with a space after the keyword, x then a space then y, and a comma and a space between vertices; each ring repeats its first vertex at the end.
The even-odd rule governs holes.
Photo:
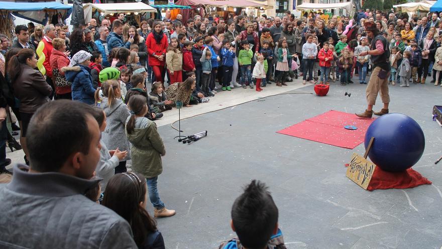
POLYGON ((128 155, 122 161, 131 159, 131 150, 124 131, 126 119, 130 116, 128 106, 121 99, 117 99, 114 105, 108 106, 107 98, 104 97, 100 107, 104 110, 107 121, 106 129, 101 133, 102 141, 108 149, 127 150, 128 155))

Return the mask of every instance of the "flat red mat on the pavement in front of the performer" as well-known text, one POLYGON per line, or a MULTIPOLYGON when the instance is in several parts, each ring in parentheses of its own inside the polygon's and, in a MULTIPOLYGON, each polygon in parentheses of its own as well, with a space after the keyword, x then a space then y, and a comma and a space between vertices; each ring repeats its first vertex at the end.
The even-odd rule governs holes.
POLYGON ((352 113, 331 110, 277 133, 353 149, 364 142, 365 132, 373 120, 361 119, 352 113), (346 125, 353 125, 358 129, 347 130, 344 128, 346 125))

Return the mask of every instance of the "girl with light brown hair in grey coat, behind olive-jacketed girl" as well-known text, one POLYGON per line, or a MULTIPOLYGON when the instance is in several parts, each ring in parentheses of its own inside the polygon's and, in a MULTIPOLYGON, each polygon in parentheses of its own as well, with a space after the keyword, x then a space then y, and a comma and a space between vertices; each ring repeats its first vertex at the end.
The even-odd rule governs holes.
POLYGON ((125 123, 130 112, 126 104, 121 100, 120 84, 117 80, 106 80, 101 84, 103 98, 100 108, 106 114, 106 128, 101 133, 102 140, 108 149, 128 151, 119 165, 115 168, 115 174, 127 172, 126 162, 131 159, 131 150, 128 138, 125 135, 125 123))

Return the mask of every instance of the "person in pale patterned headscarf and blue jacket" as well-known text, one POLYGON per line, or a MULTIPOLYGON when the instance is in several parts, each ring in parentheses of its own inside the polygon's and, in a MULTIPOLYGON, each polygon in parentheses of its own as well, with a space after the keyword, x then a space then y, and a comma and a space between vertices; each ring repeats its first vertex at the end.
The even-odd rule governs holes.
POLYGON ((75 68, 65 72, 66 79, 72 82, 72 100, 94 105, 95 89, 90 75, 90 57, 92 55, 84 50, 72 56, 69 67, 75 68), (79 68, 78 68, 79 67, 79 68), (79 69, 79 70, 78 70, 79 69))

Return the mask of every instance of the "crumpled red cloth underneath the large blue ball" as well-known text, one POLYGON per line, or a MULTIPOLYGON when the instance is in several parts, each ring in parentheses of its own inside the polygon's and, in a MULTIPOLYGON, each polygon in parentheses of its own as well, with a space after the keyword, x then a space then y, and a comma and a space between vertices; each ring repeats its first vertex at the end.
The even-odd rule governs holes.
MULTIPOLYGON (((348 165, 346 164, 346 167, 348 165)), ((411 168, 403 172, 388 172, 376 167, 367 190, 409 189, 424 184, 431 184, 431 182, 411 168)))

